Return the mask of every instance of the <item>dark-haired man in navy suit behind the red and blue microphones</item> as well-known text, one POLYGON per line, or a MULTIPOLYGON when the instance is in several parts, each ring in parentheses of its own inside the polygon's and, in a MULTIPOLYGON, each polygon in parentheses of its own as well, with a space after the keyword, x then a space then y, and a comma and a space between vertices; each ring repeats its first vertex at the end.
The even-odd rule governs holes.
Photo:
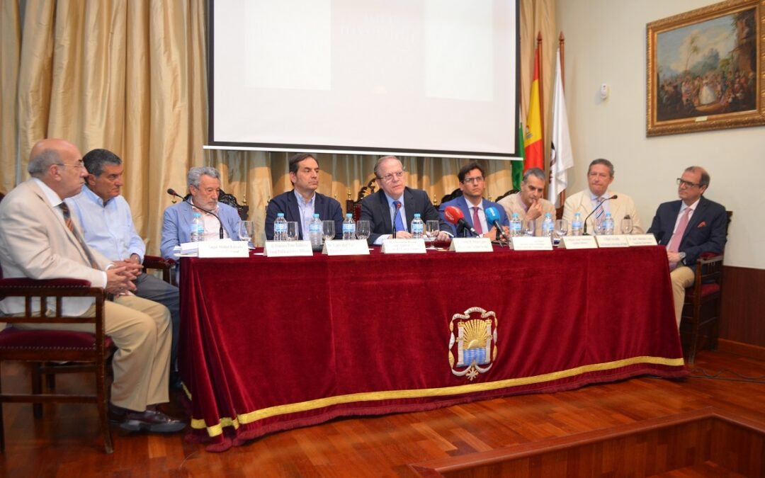
MULTIPOLYGON (((465 216, 465 221, 480 236, 494 239, 496 237, 496 227, 486 219, 487 208, 493 207, 500 216, 500 224, 503 231, 507 234, 510 223, 505 209, 498 203, 483 199, 483 191, 486 190, 486 175, 483 174, 483 167, 480 167, 480 164, 475 161, 465 164, 460 169, 460 172, 457 173, 457 179, 460 180, 462 196, 441 204, 441 207, 438 208, 441 219, 445 220, 445 211, 448 206, 458 207, 465 216)), ((454 236, 461 236, 461 234, 458 234, 457 226, 454 226, 454 224, 449 226, 451 226, 451 232, 454 236)))

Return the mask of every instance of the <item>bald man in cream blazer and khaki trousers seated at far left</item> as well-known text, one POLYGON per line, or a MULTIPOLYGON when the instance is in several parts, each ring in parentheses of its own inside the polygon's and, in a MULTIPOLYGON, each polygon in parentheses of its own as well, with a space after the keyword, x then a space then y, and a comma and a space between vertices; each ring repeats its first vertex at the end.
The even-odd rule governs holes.
MULTIPOLYGON (((83 239, 64 198, 80 193, 87 171, 77 147, 44 139, 32 148, 32 178, 0 203, 0 261, 6 278, 77 278, 115 294, 104 304, 106 334, 117 346, 109 418, 129 431, 181 431, 182 421, 156 409, 168 402, 171 324, 168 308, 135 297, 132 279, 142 266, 110 262, 83 239)), ((37 304, 33 304, 39 307, 37 304)), ((92 298, 64 299, 64 315, 92 316, 92 298)), ((0 301, 3 314, 24 314, 24 298, 0 301)), ((5 324, 2 324, 5 326, 5 324)), ((29 328, 95 331, 93 324, 34 324, 29 328)))

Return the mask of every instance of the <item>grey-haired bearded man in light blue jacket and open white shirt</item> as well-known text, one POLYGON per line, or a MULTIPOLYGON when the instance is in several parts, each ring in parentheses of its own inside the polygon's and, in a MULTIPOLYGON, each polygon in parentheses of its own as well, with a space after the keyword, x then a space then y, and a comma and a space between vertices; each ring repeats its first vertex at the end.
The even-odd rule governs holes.
POLYGON ((186 178, 191 194, 189 201, 182 201, 164 210, 162 219, 161 255, 167 259, 175 259, 174 249, 183 242, 191 240, 191 221, 194 213, 202 214, 204 224, 204 239, 220 239, 220 228, 223 228, 223 238, 239 240, 239 213, 236 209, 218 202, 220 193, 220 173, 214 167, 192 167, 186 178), (213 214, 220 218, 220 222, 213 214))

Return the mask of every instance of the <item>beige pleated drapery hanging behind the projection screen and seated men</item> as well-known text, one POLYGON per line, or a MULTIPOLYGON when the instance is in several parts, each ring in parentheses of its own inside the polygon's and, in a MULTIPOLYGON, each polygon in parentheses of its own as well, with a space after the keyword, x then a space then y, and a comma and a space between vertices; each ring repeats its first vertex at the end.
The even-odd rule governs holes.
MULTIPOLYGON (((162 211, 171 203, 164 191, 185 190, 189 167, 212 165, 221 171, 223 190, 249 204, 249 219, 262 241, 265 204, 291 188, 289 154, 203 151, 206 9, 204 0, 2 0, 0 192, 28 178, 28 154, 41 138, 65 138, 83 154, 110 149, 125 161, 123 194, 135 226, 149 239, 148 252, 157 253, 162 211)), ((555 0, 521 0, 524 112, 538 31, 544 37, 542 86, 549 109, 558 38, 555 0)), ((348 190, 355 198, 373 177, 376 160, 352 154, 317 159, 319 192, 340 203, 348 190)), ((427 190, 435 200, 458 187, 457 171, 467 162, 402 161, 409 186, 427 190)), ((487 169, 487 197, 512 188, 509 162, 481 162, 487 169)))

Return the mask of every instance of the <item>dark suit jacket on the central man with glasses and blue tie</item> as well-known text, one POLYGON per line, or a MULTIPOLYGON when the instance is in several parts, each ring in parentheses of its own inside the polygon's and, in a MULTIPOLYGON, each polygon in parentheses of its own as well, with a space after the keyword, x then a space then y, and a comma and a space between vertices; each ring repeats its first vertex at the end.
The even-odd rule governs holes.
MULTIPOLYGON (((423 221, 438 221, 439 229, 451 232, 451 227, 438 216, 438 210, 435 209, 428 193, 424 190, 405 187, 401 196, 406 212, 407 229, 409 229, 409 224, 412 224, 412 219, 415 219, 415 213, 420 213, 420 218, 423 221)), ((360 219, 369 221, 369 229, 371 229, 369 239, 367 239, 369 244, 373 244, 379 236, 390 234, 392 229, 390 206, 382 189, 361 200, 360 219)))

